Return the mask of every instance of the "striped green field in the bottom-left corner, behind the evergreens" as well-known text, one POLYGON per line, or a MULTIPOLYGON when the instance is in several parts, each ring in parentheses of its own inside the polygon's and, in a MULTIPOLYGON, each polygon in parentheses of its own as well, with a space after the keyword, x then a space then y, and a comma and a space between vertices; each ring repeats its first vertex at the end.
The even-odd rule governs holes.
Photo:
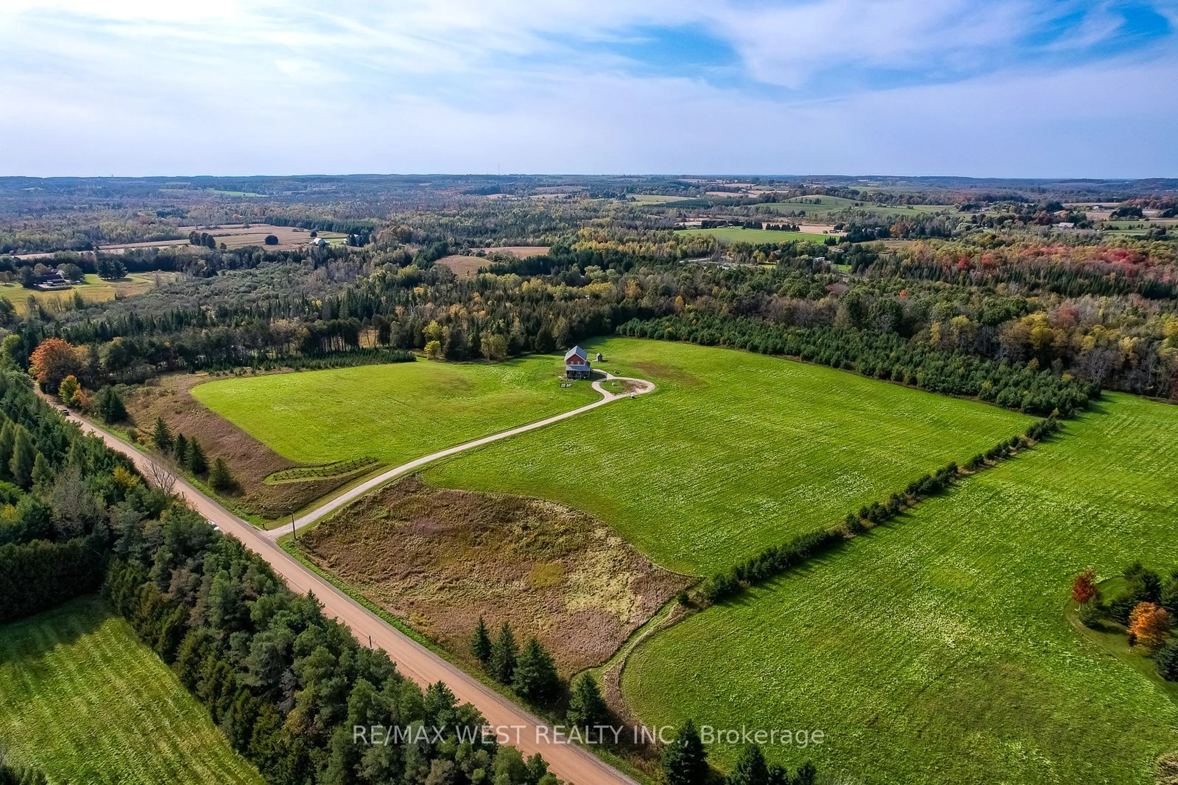
POLYGON ((0 739, 51 783, 262 783, 97 596, 0 627, 0 739))

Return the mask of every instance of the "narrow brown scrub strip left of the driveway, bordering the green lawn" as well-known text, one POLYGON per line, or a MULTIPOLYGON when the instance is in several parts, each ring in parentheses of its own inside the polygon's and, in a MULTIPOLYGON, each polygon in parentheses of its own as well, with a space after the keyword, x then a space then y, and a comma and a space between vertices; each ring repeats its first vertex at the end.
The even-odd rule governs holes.
POLYGON ((229 463, 230 473, 240 486, 232 501, 246 512, 266 519, 290 515, 355 479, 267 484, 265 479, 274 471, 302 464, 278 455, 193 398, 188 390, 207 381, 207 374, 171 374, 141 387, 126 388, 123 400, 131 424, 144 440, 154 429, 157 417, 163 417, 173 434, 196 436, 210 464, 217 457, 229 463))

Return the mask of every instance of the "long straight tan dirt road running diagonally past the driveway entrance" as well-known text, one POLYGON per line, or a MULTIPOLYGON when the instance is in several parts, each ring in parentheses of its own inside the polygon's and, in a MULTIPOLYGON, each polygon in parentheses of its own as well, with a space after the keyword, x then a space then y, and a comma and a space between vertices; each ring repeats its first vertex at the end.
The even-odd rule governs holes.
MULTIPOLYGON (((602 392, 604 394, 604 390, 602 392)), ((613 398, 604 398, 591 405, 601 405, 610 400, 613 398)), ((85 431, 101 437, 112 449, 130 456, 135 466, 150 476, 147 469, 153 463, 151 456, 81 417, 71 415, 70 420, 80 424, 85 431)), ((444 681, 459 701, 474 704, 489 725, 510 728, 507 733, 511 744, 521 752, 543 754, 550 771, 561 779, 576 785, 636 785, 633 779, 602 763, 582 747, 555 740, 547 724, 383 621, 304 567, 265 533, 233 515, 187 482, 177 480, 176 492, 201 515, 220 527, 221 532, 237 537, 247 548, 260 554, 274 572, 282 575, 291 591, 300 594, 313 592, 323 603, 323 612, 327 616, 348 625, 362 644, 371 640, 373 646, 388 652, 404 675, 422 686, 444 681)))

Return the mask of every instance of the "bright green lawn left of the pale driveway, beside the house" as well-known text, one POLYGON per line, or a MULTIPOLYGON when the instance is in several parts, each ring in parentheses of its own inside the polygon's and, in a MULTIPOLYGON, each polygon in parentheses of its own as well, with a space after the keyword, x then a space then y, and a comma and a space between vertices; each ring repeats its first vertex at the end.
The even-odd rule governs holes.
POLYGON ((230 378, 192 395, 292 461, 373 456, 399 464, 598 400, 562 388, 557 356, 496 364, 431 361, 230 378))

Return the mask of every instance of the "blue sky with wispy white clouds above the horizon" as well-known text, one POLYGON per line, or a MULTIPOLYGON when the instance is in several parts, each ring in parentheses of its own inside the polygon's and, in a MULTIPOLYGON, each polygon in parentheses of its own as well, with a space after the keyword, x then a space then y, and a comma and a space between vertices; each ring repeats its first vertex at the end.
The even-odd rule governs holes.
POLYGON ((0 174, 1178 177, 1178 0, 4 0, 0 174))

